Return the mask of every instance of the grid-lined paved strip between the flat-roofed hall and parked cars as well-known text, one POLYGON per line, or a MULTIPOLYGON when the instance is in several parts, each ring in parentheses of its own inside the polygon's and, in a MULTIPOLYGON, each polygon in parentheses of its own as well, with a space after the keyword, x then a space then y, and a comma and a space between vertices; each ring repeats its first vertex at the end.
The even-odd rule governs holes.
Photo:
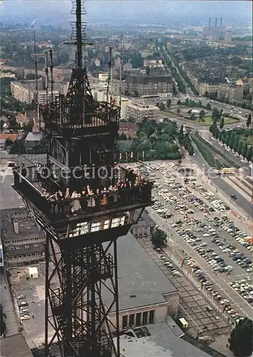
POLYGON ((174 259, 175 254, 172 256, 169 253, 172 247, 167 246, 167 254, 163 254, 154 250, 149 239, 139 238, 138 241, 169 278, 169 281, 172 281, 178 288, 180 293, 179 318, 184 317, 187 320, 189 324, 187 333, 194 338, 198 336, 199 341, 207 340, 210 347, 217 348, 221 353, 227 353, 226 341, 232 328, 229 318, 212 308, 212 303, 208 298, 205 298, 204 291, 192 283, 188 274, 185 275, 185 272, 182 272, 179 256, 174 259), (166 260, 164 260, 164 256, 166 256, 166 260), (167 263, 168 261, 169 263, 167 263), (173 274, 173 271, 180 273, 173 274), (207 306, 211 307, 211 311, 207 306))

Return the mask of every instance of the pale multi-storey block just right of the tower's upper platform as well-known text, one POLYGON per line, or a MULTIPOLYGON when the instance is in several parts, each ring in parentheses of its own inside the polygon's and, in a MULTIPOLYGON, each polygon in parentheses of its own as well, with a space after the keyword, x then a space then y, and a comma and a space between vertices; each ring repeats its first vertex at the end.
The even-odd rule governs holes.
POLYGON ((127 119, 141 122, 143 119, 158 119, 159 109, 143 101, 129 101, 127 104, 127 119))

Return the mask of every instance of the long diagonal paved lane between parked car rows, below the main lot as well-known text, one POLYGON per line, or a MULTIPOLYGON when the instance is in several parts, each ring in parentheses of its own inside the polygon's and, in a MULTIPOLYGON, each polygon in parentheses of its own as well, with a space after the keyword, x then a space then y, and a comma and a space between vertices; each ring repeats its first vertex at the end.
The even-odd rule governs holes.
POLYGON ((217 286, 219 286, 219 290, 221 291, 221 295, 223 298, 227 298, 232 305, 237 309, 237 311, 240 313, 242 311, 243 316, 249 316, 249 318, 252 318, 252 313, 253 313, 253 308, 252 306, 247 303, 242 296, 240 296, 234 289, 227 284, 227 276, 224 276, 222 274, 215 276, 214 278, 214 271, 211 266, 207 263, 207 261, 202 258, 202 256, 199 256, 197 251, 194 250, 189 244, 184 241, 184 239, 179 236, 179 234, 172 229, 172 227, 167 223, 167 220, 164 218, 161 218, 152 208, 148 208, 149 212, 151 213, 152 218, 154 221, 161 227, 163 227, 164 231, 172 237, 172 239, 179 244, 179 246, 182 247, 184 251, 186 251, 194 261, 202 268, 202 271, 204 271, 205 276, 209 280, 215 280, 217 283, 217 286))

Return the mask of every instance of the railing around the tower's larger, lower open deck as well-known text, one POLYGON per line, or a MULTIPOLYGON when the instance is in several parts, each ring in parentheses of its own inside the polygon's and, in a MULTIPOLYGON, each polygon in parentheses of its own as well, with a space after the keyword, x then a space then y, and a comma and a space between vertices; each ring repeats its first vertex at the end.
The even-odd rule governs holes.
MULTIPOLYGON (((32 171, 33 168, 29 169, 32 171)), ((22 169, 14 169, 14 188, 52 220, 102 213, 127 206, 148 206, 152 201, 152 182, 149 181, 137 186, 107 189, 98 194, 91 193, 74 198, 57 199, 56 194, 46 197, 41 183, 32 174, 27 175, 27 170, 26 167, 26 175, 22 175, 22 169)))

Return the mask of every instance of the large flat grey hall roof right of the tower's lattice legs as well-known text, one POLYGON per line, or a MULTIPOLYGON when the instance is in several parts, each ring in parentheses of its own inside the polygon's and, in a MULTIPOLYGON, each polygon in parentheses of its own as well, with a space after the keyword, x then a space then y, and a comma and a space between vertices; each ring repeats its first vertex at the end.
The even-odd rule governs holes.
MULTIPOLYGON (((131 233, 119 237, 117 243, 119 310, 164 303, 163 294, 178 293, 131 233)), ((109 306, 111 293, 104 289, 102 295, 104 303, 109 306)))

